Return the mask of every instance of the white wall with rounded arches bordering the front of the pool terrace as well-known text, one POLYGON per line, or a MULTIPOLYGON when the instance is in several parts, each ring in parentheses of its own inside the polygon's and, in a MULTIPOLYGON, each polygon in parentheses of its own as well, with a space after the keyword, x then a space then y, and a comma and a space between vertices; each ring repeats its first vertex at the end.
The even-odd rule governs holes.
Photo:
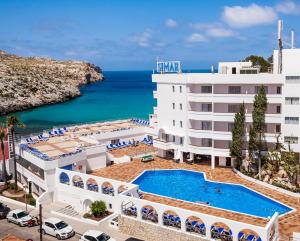
MULTIPOLYGON (((197 218, 200 218, 203 223, 205 224, 206 227, 206 239, 210 240, 211 239, 211 234, 210 234, 210 228, 213 224, 217 222, 221 222, 226 224, 232 231, 233 234, 233 241, 238 241, 238 233, 242 230, 245 229, 250 229, 255 231, 261 238, 262 241, 277 241, 278 237, 278 214, 274 214, 274 216, 271 218, 271 220, 268 222, 268 224, 265 227, 261 226, 256 226, 256 225, 251 225, 243 222, 238 222, 222 217, 216 217, 208 214, 203 214, 199 212, 194 212, 178 207, 173 207, 173 206, 168 206, 160 203, 155 203, 151 202, 145 199, 139 199, 138 198, 138 186, 131 184, 131 183, 125 183, 113 179, 108 179, 108 178, 102 178, 102 177, 97 177, 93 175, 88 175, 84 173, 78 173, 74 171, 68 171, 68 170, 63 170, 56 168, 56 174, 55 174, 55 182, 56 182, 56 189, 54 192, 54 200, 55 201, 60 201, 68 204, 72 204, 72 206, 79 212, 83 213, 86 212, 86 208, 88 205, 90 205, 93 201, 96 200, 103 200, 106 202, 107 207, 109 208, 110 211, 113 211, 115 213, 120 214, 122 217, 126 217, 126 219, 133 219, 137 220, 138 222, 147 222, 142 219, 141 215, 141 210, 144 206, 152 206, 157 214, 158 214, 158 223, 153 224, 157 225, 159 228, 167 228, 170 229, 166 226, 163 225, 163 213, 166 211, 173 211, 175 212, 181 220, 181 229, 177 230, 177 232, 181 232, 183 234, 190 234, 189 232, 186 231, 186 226, 185 226, 185 220, 188 217, 194 216, 197 218), (67 184, 62 184, 60 183, 60 174, 65 173, 69 177, 69 185, 67 184), (83 183, 84 187, 76 187, 73 185, 72 179, 74 176, 79 176, 83 183), (87 189, 87 180, 89 178, 93 178, 95 182, 98 184, 99 191, 90 191, 87 189), (115 191, 114 196, 106 195, 103 194, 101 191, 101 185, 104 182, 109 182, 115 191), (118 194, 118 189, 120 186, 126 186, 127 190, 124 191, 123 193, 118 194), (128 196, 130 195, 130 196, 128 196), (122 210, 122 204, 131 202, 134 204, 134 206, 137 208, 137 217, 129 217, 126 216, 123 213, 122 210), (273 231, 272 231, 273 230, 273 231), (275 232, 274 235, 272 233, 275 232), (271 239, 272 236, 272 239, 271 239)), ((124 219, 124 220, 126 220, 124 219)), ((175 230, 175 229, 174 229, 175 230)), ((174 232, 174 235, 176 235, 176 232, 174 232)))

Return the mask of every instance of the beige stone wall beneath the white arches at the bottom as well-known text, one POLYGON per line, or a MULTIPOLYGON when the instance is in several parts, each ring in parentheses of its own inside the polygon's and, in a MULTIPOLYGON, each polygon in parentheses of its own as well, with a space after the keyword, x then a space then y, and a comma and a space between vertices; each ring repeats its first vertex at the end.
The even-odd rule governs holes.
POLYGON ((177 232, 175 229, 160 227, 148 222, 119 216, 120 232, 145 241, 205 241, 206 238, 177 232))

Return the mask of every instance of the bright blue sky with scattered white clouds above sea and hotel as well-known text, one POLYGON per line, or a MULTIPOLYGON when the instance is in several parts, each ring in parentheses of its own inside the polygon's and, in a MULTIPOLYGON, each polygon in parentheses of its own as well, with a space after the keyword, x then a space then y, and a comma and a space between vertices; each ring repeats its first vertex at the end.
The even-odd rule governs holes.
POLYGON ((277 20, 300 48, 300 0, 0 0, 0 49, 151 70, 156 59, 209 69, 277 48, 277 20))

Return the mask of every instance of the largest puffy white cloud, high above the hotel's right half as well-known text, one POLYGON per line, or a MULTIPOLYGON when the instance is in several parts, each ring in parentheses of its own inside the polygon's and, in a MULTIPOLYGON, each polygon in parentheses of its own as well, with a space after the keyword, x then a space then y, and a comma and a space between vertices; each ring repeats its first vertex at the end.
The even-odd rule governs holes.
POLYGON ((225 6, 222 18, 233 28, 244 28, 273 23, 277 19, 277 13, 272 7, 257 4, 247 7, 225 6))

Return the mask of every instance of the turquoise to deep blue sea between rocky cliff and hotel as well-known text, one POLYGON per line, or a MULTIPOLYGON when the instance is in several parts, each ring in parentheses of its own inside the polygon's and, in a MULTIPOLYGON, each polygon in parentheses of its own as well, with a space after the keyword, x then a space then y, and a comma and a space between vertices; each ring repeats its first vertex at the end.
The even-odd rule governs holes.
POLYGON ((105 80, 81 87, 73 100, 16 113, 25 123, 21 132, 39 132, 53 126, 148 118, 156 104, 152 71, 105 71, 105 80))

